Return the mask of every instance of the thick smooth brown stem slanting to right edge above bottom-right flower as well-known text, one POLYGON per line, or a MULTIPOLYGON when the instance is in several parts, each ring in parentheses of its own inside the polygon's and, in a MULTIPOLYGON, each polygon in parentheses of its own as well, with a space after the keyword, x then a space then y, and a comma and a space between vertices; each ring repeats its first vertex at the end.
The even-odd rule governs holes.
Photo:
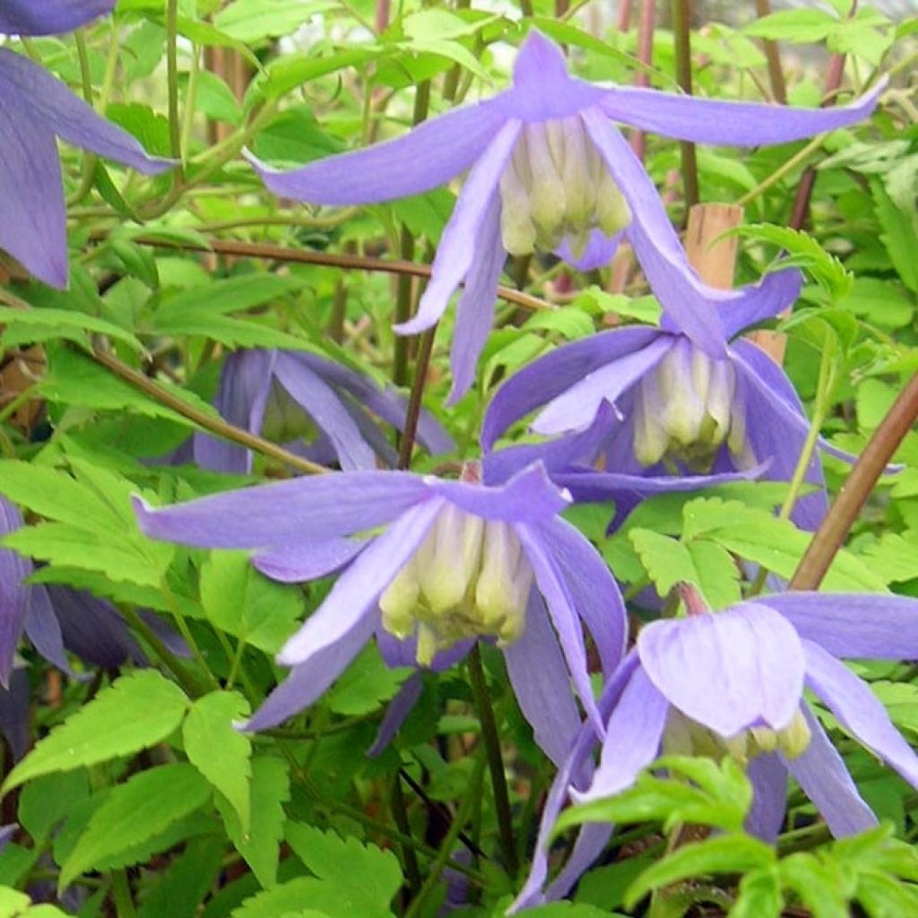
POLYGON ((877 430, 873 431, 845 485, 813 535, 806 554, 800 559, 800 565, 791 577, 790 589, 819 588, 877 479, 889 465, 893 453, 912 429, 915 420, 918 420, 918 373, 912 376, 877 430))

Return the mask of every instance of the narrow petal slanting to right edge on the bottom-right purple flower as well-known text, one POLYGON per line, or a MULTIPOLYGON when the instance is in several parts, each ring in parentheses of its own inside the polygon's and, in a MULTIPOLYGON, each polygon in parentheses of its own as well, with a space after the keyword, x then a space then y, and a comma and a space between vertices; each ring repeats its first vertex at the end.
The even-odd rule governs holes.
POLYGON ((804 641, 807 685, 828 706, 846 730, 884 762, 918 787, 918 756, 892 725, 890 715, 866 682, 827 653, 819 644, 804 641))

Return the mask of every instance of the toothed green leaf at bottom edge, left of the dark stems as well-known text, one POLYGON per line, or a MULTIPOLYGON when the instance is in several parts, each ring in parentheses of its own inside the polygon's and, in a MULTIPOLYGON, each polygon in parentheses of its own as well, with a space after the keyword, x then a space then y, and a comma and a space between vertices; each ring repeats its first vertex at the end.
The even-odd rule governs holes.
POLYGON ((402 883, 401 867, 391 851, 306 823, 290 823, 286 840, 319 879, 347 890, 349 907, 341 914, 365 918, 388 914, 389 902, 402 883))

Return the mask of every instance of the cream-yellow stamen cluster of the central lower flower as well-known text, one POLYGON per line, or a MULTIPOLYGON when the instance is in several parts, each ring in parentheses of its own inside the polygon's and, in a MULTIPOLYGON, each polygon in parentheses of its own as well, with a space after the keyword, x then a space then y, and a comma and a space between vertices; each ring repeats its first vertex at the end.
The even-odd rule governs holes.
POLYGON ((487 521, 447 504, 417 552, 379 599, 383 627, 418 637, 418 662, 457 641, 520 637, 532 566, 508 523, 487 521))

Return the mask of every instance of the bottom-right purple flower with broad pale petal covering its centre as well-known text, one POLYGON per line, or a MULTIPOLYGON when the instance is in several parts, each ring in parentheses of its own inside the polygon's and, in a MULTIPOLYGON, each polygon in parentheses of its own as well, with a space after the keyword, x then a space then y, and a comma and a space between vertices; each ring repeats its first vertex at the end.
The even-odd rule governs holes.
MULTIPOLYGON (((565 799, 618 793, 661 752, 733 756, 747 767, 755 799, 746 828, 767 841, 774 841, 784 820, 788 773, 834 836, 875 825, 804 689, 918 787, 918 756, 867 683, 839 659, 918 655, 918 600, 799 592, 757 597, 714 614, 691 601, 689 607, 687 618, 644 627, 610 680, 599 701, 606 739, 595 773, 583 770, 595 735, 577 737, 549 795, 532 876, 516 908, 544 899, 546 845, 565 799)), ((566 894, 599 856, 611 829, 593 825, 589 831, 588 844, 580 845, 549 897, 566 894)))

